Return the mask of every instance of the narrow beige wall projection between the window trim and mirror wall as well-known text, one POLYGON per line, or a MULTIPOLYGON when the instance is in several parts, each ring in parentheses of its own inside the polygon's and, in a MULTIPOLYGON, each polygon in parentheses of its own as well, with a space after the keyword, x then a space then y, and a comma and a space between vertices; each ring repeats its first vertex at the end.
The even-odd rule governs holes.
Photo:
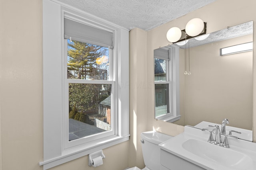
POLYGON ((130 31, 130 167, 143 168, 140 133, 146 131, 146 31, 135 28, 130 31))

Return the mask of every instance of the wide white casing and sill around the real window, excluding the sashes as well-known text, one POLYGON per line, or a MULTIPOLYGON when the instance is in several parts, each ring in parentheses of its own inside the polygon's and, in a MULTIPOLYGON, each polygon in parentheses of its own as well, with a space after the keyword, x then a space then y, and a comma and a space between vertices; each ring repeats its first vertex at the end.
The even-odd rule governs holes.
MULTIPOLYGON (((43 0, 43 113, 44 160, 49 169, 92 152, 129 140, 129 30, 102 20, 57 0, 43 0), (114 33, 112 70, 115 100, 113 134, 89 143, 69 143, 63 133, 68 125, 64 114, 63 65, 65 65, 64 15, 83 18, 88 25, 108 28, 114 33), (68 145, 67 145, 68 144, 68 145)), ((99 83, 104 84, 104 81, 99 83)), ((109 83, 109 82, 108 82, 109 83)), ((106 84, 108 84, 106 83, 106 84)), ((74 140, 83 141, 83 140, 74 140)))

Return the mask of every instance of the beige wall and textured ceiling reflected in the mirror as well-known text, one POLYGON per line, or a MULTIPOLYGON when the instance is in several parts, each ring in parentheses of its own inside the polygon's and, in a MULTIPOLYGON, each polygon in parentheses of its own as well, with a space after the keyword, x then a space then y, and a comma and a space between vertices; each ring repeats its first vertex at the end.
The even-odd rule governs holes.
MULTIPOLYGON (((224 47, 252 42, 252 33, 250 21, 209 33, 204 40, 198 40, 206 36, 201 35, 188 39, 185 45, 181 41, 161 48, 178 48, 180 118, 172 123, 221 124, 226 118, 228 126, 252 130, 252 51, 220 55, 224 47)), ((155 95, 156 100, 160 101, 160 95, 155 95)))

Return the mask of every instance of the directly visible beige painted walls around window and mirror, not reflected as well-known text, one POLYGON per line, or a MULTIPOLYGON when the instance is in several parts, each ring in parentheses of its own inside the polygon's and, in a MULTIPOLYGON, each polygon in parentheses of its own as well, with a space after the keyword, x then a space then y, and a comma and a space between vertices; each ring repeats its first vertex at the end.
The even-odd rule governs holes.
MULTIPOLYGON (((43 160, 42 0, 0 3, 0 169, 42 170, 38 165, 43 160)), ((52 169, 142 168, 140 132, 156 129, 175 136, 184 130, 183 126, 154 120, 153 50, 169 44, 165 35, 172 26, 184 28, 188 20, 199 17, 207 22, 207 31, 213 32, 255 20, 255 6, 254 0, 217 0, 151 31, 132 30, 130 141, 105 149, 104 165, 98 168, 88 167, 84 156, 52 169)))

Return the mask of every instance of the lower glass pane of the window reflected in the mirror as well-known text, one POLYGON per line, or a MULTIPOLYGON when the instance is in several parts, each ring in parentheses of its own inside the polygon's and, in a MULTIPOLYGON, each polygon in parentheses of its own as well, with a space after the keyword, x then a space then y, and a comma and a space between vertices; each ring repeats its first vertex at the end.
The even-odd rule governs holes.
POLYGON ((155 84, 156 117, 169 113, 168 84, 155 84))

